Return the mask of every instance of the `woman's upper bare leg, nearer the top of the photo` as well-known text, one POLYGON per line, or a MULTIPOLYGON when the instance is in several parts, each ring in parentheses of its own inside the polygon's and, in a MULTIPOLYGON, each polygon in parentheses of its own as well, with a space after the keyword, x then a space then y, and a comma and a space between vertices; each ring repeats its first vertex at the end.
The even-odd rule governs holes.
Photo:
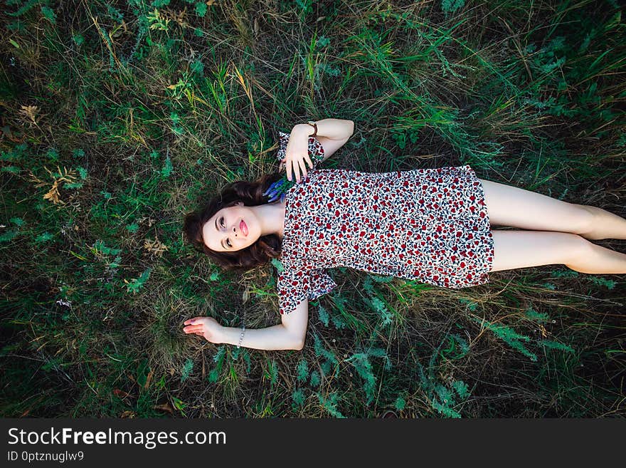
POLYGON ((489 222, 534 231, 580 234, 585 239, 626 239, 626 219, 604 209, 479 179, 489 222))

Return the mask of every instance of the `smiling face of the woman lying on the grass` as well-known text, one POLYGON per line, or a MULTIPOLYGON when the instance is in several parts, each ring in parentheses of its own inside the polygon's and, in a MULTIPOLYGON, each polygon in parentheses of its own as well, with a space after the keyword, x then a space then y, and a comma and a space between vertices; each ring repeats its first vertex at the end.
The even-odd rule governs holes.
POLYGON ((222 208, 202 227, 204 244, 214 251, 234 252, 254 244, 260 237, 257 217, 243 202, 222 208))

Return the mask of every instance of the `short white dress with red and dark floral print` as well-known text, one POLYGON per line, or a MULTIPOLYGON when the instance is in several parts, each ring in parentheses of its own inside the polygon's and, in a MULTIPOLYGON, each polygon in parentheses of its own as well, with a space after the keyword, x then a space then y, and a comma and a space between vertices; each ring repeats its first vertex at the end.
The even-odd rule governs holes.
MULTIPOLYGON (((277 158, 290 135, 280 132, 277 158)), ((309 151, 324 153, 309 136, 309 151)), ((277 277, 280 313, 329 293, 346 266, 445 288, 489 281, 494 241, 481 182, 469 165, 383 173, 307 170, 285 194, 277 277)))

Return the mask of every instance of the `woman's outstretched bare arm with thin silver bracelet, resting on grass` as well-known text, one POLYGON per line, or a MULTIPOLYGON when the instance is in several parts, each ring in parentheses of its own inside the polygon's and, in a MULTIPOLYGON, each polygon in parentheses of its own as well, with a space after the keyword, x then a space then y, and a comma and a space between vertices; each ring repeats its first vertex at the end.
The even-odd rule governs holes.
MULTIPOLYGON (((301 350, 307 334, 309 301, 298 304, 295 311, 282 316, 282 323, 267 328, 246 328, 241 346, 262 350, 301 350)), ((185 322, 185 333, 196 333, 211 343, 238 345, 241 328, 223 327, 215 318, 195 317, 185 322)))

